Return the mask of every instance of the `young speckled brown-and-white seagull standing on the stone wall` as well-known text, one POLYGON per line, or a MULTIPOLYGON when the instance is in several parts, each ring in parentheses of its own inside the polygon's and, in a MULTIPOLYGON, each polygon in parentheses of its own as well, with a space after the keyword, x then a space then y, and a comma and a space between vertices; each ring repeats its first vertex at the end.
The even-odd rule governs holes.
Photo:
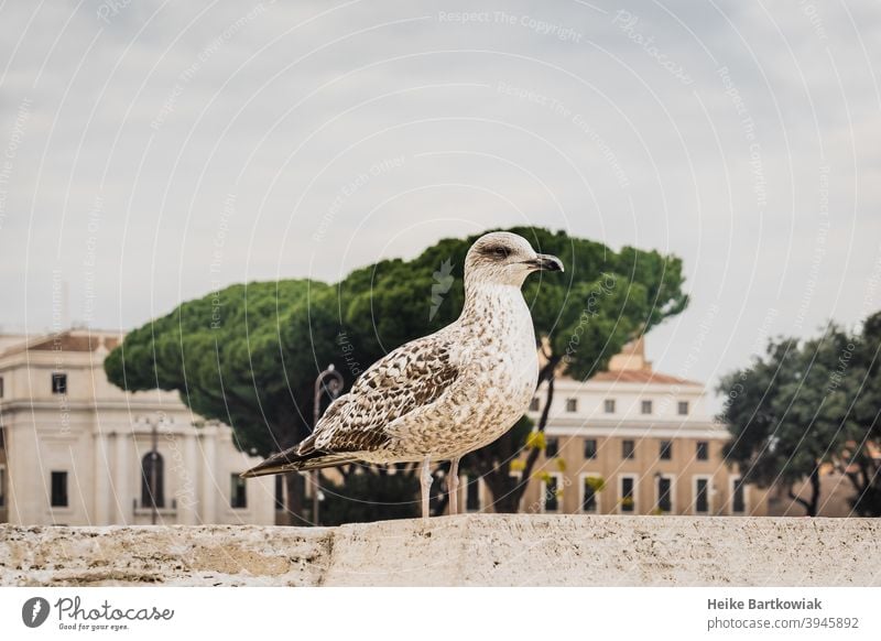
POLYGON ((374 362, 308 437, 241 476, 418 463, 427 519, 431 464, 449 460, 449 513, 457 513, 459 459, 508 432, 535 393, 539 355, 521 286, 541 270, 562 272, 563 262, 515 233, 478 238, 465 258, 459 317, 374 362))

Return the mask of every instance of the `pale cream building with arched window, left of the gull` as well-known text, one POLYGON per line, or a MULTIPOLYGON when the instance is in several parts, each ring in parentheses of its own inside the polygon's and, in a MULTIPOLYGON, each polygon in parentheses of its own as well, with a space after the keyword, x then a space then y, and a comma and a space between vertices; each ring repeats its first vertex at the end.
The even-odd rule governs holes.
POLYGON ((0 521, 272 524, 272 479, 177 392, 128 393, 104 358, 117 333, 0 336, 0 521), (155 444, 155 454, 154 454, 155 444))

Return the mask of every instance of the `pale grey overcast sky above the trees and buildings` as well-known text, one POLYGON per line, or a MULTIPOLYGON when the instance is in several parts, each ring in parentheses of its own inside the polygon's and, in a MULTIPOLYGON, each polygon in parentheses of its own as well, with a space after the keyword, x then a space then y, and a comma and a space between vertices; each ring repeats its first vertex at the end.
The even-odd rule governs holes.
POLYGON ((878 61, 875 0, 8 0, 0 325, 531 224, 682 257, 648 349, 713 384, 881 308, 878 61))

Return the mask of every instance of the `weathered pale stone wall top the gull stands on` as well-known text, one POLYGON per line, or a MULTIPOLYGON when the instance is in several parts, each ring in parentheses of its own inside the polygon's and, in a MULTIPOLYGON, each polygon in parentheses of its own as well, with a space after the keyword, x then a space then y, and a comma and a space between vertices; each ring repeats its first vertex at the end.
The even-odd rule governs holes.
POLYGON ((481 514, 341 528, 0 526, 0 585, 878 586, 881 521, 481 514))

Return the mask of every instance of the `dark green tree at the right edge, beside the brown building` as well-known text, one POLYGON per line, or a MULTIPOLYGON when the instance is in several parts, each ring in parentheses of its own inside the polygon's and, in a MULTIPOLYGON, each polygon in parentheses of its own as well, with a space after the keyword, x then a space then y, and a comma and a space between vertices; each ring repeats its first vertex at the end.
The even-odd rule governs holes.
POLYGON ((813 517, 823 499, 822 470, 835 467, 857 490, 855 510, 881 513, 873 455, 879 320, 881 314, 870 317, 861 335, 829 324, 808 340, 773 339, 763 357, 721 380, 720 419, 731 432, 726 456, 744 480, 780 485, 813 517), (804 479, 811 485, 806 499, 793 491, 804 479))

